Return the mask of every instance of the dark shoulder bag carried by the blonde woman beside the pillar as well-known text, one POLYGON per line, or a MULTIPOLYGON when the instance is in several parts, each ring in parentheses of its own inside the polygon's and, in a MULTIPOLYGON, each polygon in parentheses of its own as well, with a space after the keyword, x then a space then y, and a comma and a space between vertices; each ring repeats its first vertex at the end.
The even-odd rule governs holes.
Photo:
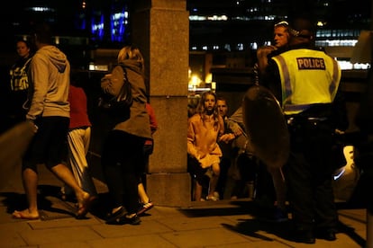
MULTIPOLYGON (((98 107, 104 111, 128 111, 132 106, 132 86, 127 77, 127 71, 123 65, 123 84, 119 93, 114 94, 110 82, 101 83, 103 93, 98 99, 98 107)), ((109 80, 110 81, 110 80, 109 80)))

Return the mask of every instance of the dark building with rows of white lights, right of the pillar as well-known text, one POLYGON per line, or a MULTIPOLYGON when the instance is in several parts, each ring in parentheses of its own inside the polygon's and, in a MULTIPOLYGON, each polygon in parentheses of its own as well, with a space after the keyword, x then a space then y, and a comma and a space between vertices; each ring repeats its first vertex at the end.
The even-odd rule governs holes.
MULTIPOLYGON (((370 0, 353 3, 349 0, 188 0, 187 9, 189 50, 220 57, 226 54, 227 67, 252 66, 252 63, 241 63, 250 59, 240 57, 244 57, 244 53, 252 56, 252 51, 260 46, 270 45, 276 22, 304 14, 309 14, 317 25, 315 45, 337 58, 342 69, 369 66, 351 65, 349 55, 360 31, 370 30, 370 0), (231 59, 232 54, 236 55, 235 59, 231 59)), ((221 66, 214 60, 213 67, 221 66)))

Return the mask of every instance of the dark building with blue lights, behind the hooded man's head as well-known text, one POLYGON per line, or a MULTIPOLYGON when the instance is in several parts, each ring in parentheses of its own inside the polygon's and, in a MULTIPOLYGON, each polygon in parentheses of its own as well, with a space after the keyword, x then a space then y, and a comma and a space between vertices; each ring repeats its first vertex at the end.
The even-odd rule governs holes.
MULTIPOLYGON (((59 36, 89 38, 94 46, 111 48, 129 42, 132 0, 11 1, 0 21, 9 39, 23 36, 35 22, 49 22, 59 36)), ((3 42, 6 42, 3 40, 3 42)))

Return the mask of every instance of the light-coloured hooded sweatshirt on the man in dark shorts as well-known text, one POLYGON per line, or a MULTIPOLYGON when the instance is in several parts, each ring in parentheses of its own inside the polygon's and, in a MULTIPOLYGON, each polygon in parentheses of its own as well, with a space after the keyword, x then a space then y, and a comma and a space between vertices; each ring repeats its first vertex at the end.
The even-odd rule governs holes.
POLYGON ((66 55, 55 46, 44 46, 32 57, 29 69, 27 120, 37 117, 68 117, 70 65, 66 55))

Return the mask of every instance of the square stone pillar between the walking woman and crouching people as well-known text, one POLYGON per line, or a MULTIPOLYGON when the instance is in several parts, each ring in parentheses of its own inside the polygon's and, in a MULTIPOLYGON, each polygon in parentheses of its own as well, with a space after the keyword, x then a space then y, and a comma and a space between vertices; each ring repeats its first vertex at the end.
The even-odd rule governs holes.
POLYGON ((150 104, 159 123, 150 155, 147 192, 159 206, 185 207, 191 202, 187 173, 187 2, 134 2, 132 44, 145 58, 150 104))

